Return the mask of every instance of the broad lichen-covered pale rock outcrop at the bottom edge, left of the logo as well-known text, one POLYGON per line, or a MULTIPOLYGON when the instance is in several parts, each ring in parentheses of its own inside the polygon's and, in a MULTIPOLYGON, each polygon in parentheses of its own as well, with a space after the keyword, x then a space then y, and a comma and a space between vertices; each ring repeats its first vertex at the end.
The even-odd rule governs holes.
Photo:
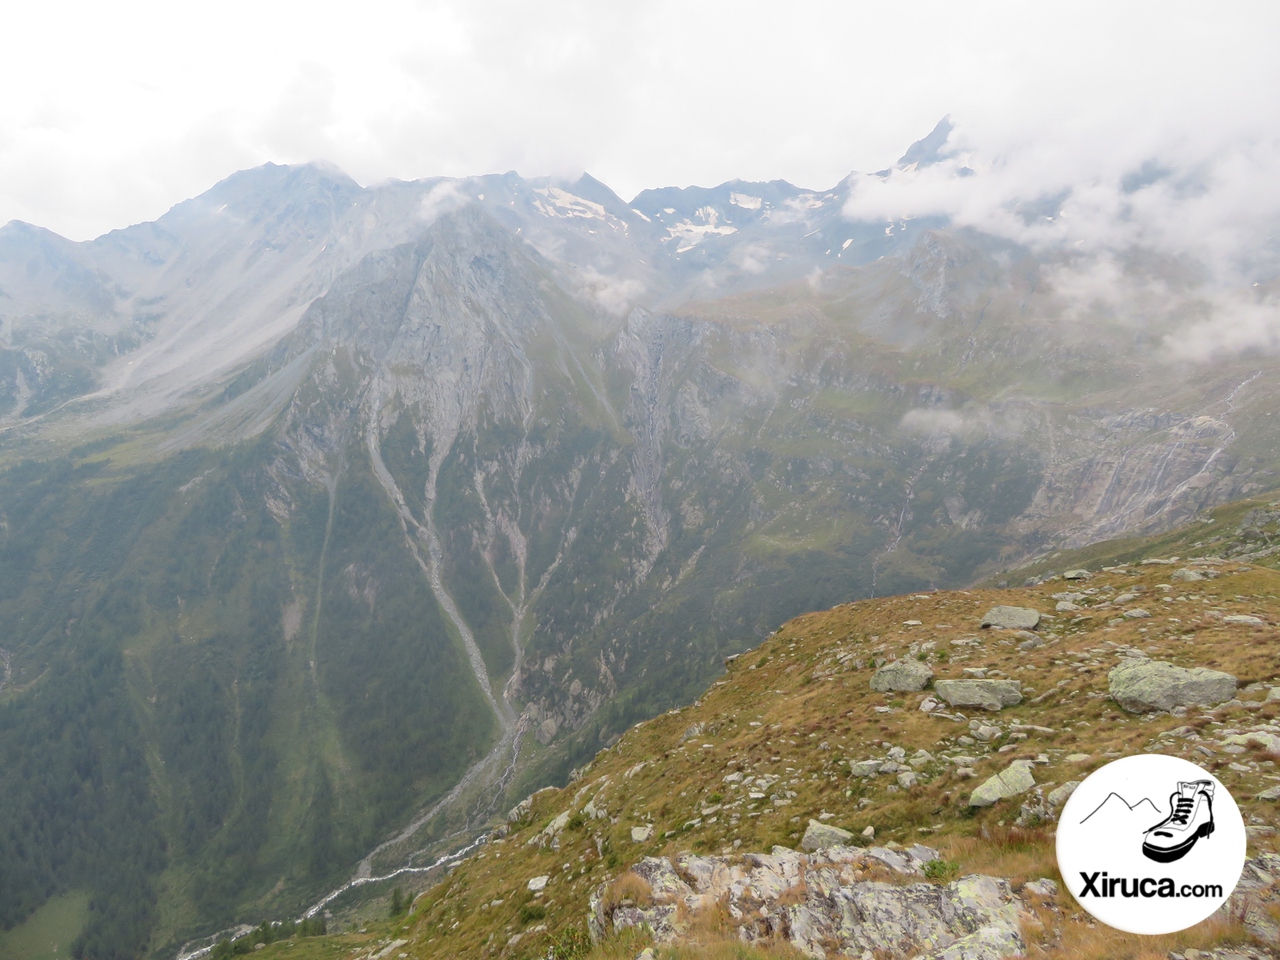
POLYGON ((748 943, 785 940, 809 956, 872 951, 883 957, 997 960, 1024 950, 1018 913, 1023 902, 1009 881, 961 877, 947 884, 870 879, 891 870, 919 876, 937 851, 832 846, 817 854, 773 847, 745 856, 646 858, 634 868, 652 891, 650 906, 611 906, 607 887, 591 896, 591 936, 648 925, 654 940, 682 934, 681 913, 726 902, 748 943), (678 872, 677 872, 678 870, 678 872), (680 908, 685 910, 681 911, 680 908))

